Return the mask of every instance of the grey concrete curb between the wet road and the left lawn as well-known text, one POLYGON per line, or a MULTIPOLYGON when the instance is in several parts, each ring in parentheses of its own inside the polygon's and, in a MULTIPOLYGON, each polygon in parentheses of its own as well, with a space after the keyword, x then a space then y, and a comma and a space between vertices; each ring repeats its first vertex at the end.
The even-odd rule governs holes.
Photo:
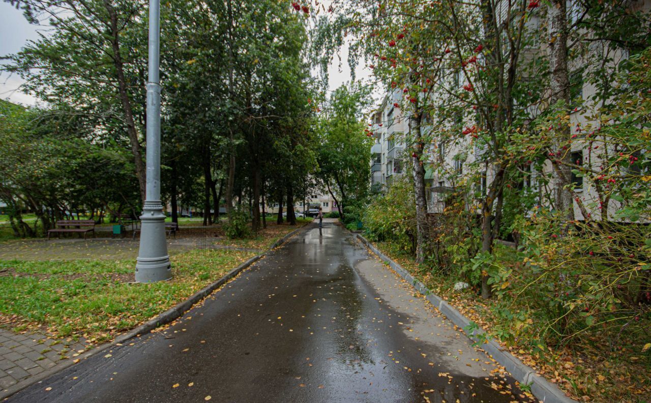
MULTIPOLYGON (((237 266, 233 270, 230 270, 230 272, 225 274, 225 276, 223 276, 222 278, 218 279, 214 283, 209 284, 206 287, 202 288, 201 290, 192 294, 189 298, 187 298, 187 300, 183 302, 179 302, 178 304, 174 305, 167 311, 161 313, 157 317, 147 320, 145 323, 141 324, 137 328, 133 328, 133 330, 128 331, 127 333, 124 333, 122 335, 119 335, 113 341, 109 343, 100 344, 99 346, 96 346, 92 350, 89 350, 88 352, 85 352, 77 356, 77 358, 79 359, 77 363, 83 361, 84 359, 92 357, 96 354, 99 354, 100 352, 106 350, 107 348, 111 348, 116 344, 121 344, 128 341, 129 339, 133 339, 133 337, 137 337, 149 333, 150 331, 158 328, 159 326, 163 326, 182 317, 183 314, 189 311, 193 307, 193 305, 197 304, 197 302, 203 300, 204 298, 206 298, 206 296, 210 295, 213 291, 215 291, 215 289, 218 289, 219 287, 224 285, 227 281, 240 274, 240 272, 242 272, 245 268, 248 268, 249 266, 253 265, 253 263, 255 263, 256 261, 262 259, 262 257, 264 257, 264 255, 266 255, 267 253, 271 252, 271 250, 277 248, 278 246, 281 246, 281 244, 286 242, 286 240, 296 235, 296 233, 298 233, 299 231, 301 231, 301 229, 303 229, 308 225, 309 224, 305 224, 305 226, 294 229, 294 231, 288 233, 281 239, 274 242, 273 245, 271 245, 271 248, 269 248, 269 250, 267 250, 266 252, 251 257, 251 259, 248 259, 247 261, 237 266)), ((56 374, 57 372, 61 372, 62 370, 71 367, 74 364, 76 363, 73 362, 72 359, 69 359, 68 361, 66 361, 66 363, 63 363, 62 365, 57 365, 56 367, 41 372, 40 374, 32 376, 29 379, 26 379, 22 382, 18 382, 15 385, 8 387, 7 389, 3 389, 2 391, 0 391, 0 399, 5 400, 9 396, 20 392, 26 387, 34 385, 35 383, 42 382, 43 380, 46 380, 47 378, 56 374)))

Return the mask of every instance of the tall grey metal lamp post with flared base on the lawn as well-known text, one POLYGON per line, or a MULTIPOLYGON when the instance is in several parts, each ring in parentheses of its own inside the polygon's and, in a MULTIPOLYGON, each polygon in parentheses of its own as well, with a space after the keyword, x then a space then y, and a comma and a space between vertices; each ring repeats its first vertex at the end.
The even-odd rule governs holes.
POLYGON ((159 83, 160 1, 149 0, 149 79, 147 82, 147 185, 141 219, 135 281, 172 278, 161 203, 161 87, 159 83))

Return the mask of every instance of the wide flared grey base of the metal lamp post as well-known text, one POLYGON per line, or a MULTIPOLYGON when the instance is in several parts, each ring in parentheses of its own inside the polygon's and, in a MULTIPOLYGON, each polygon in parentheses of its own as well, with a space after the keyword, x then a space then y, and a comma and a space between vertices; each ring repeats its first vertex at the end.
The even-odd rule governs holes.
POLYGON ((140 250, 135 281, 155 283, 172 278, 172 265, 165 239, 165 214, 160 201, 145 201, 141 219, 140 250))

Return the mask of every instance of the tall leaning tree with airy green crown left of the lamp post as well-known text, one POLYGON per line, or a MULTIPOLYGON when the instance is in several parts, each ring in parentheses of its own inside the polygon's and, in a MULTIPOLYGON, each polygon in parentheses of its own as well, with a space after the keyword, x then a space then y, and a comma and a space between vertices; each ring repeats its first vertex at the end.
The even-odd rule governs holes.
POLYGON ((11 55, 2 69, 20 74, 25 90, 51 105, 75 105, 97 122, 120 127, 115 135, 126 133, 145 200, 144 90, 137 87, 145 85, 146 2, 5 1, 33 23, 49 19, 53 32, 11 55))

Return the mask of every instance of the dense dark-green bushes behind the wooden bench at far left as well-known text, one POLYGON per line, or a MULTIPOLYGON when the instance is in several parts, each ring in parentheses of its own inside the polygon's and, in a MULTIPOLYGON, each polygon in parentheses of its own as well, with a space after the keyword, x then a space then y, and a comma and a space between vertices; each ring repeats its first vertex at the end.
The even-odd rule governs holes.
POLYGON ((74 127, 52 111, 0 101, 0 200, 14 235, 42 235, 70 213, 129 209, 137 200, 128 154, 71 136, 74 127), (21 218, 25 209, 36 213, 32 226, 21 218))

